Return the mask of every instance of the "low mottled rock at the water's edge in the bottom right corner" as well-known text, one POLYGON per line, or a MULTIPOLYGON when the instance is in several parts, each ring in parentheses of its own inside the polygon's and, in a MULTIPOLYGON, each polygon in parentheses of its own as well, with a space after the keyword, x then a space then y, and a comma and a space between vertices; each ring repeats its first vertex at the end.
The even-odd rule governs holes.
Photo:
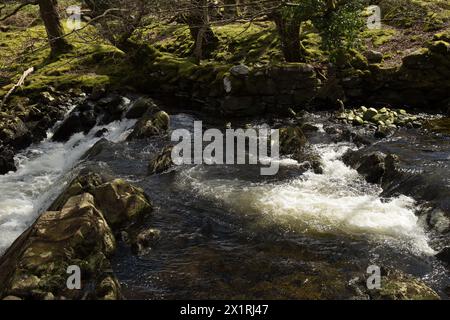
POLYGON ((373 300, 439 300, 439 295, 422 281, 397 270, 387 270, 381 288, 368 290, 373 300))

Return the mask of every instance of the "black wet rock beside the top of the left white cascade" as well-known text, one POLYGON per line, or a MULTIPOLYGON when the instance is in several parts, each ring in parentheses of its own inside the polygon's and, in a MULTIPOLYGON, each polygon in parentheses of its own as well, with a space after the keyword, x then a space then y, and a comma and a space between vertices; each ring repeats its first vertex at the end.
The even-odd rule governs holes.
POLYGON ((65 142, 75 133, 83 132, 86 134, 95 126, 97 123, 97 116, 94 110, 81 110, 82 109, 80 108, 80 110, 73 111, 61 124, 53 135, 54 141, 65 142))

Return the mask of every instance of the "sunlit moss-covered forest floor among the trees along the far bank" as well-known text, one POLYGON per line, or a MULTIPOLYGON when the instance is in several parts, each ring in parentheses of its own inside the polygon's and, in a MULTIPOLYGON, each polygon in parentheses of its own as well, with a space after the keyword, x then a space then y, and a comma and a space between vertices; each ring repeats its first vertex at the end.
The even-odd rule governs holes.
MULTIPOLYGON (((64 6, 65 1, 60 1, 64 6)), ((450 37, 450 4, 445 0, 381 0, 378 5, 384 15, 382 28, 362 34, 360 52, 375 50, 383 54, 382 66, 401 64, 406 55, 426 46, 436 35, 450 37)), ((73 52, 49 60, 45 30, 37 19, 37 8, 27 7, 10 18, 0 33, 0 96, 29 67, 36 71, 22 88, 24 94, 55 88, 92 88, 97 85, 124 85, 123 74, 130 72, 126 56, 100 39, 92 26, 71 34, 73 52)), ((151 44, 164 55, 177 61, 190 58, 193 41, 186 25, 155 24, 144 33, 143 43, 151 44)), ((245 64, 250 67, 282 64, 280 43, 272 22, 234 23, 213 26, 220 42, 205 64, 245 64)), ((321 50, 321 39, 313 26, 306 23, 302 33, 306 61, 325 64, 328 55, 321 50)), ((20 94, 20 91, 18 92, 20 94)))

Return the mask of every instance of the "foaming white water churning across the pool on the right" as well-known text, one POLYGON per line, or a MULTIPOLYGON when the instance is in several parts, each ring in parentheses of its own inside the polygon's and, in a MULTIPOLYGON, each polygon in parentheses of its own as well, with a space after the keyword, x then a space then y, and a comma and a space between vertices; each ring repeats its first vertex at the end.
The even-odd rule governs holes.
MULTIPOLYGON (((323 174, 307 172, 279 183, 238 179, 209 179, 208 168, 184 171, 182 187, 222 202, 242 214, 259 213, 269 223, 282 223, 299 232, 338 233, 406 245, 418 254, 433 254, 424 229, 414 214, 414 200, 379 197, 381 189, 368 184, 341 156, 349 145, 317 145, 323 174)), ((281 161, 292 165, 292 160, 281 161)))

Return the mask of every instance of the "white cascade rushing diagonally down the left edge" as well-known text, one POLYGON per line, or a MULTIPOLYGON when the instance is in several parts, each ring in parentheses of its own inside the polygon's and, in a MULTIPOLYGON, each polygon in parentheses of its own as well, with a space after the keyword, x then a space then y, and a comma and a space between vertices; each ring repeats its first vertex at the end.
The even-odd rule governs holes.
POLYGON ((96 126, 88 134, 77 133, 66 143, 51 141, 51 133, 43 142, 16 156, 16 172, 0 176, 0 255, 45 210, 64 187, 64 176, 80 157, 100 138, 98 130, 106 128, 104 138, 124 140, 134 120, 96 126))

